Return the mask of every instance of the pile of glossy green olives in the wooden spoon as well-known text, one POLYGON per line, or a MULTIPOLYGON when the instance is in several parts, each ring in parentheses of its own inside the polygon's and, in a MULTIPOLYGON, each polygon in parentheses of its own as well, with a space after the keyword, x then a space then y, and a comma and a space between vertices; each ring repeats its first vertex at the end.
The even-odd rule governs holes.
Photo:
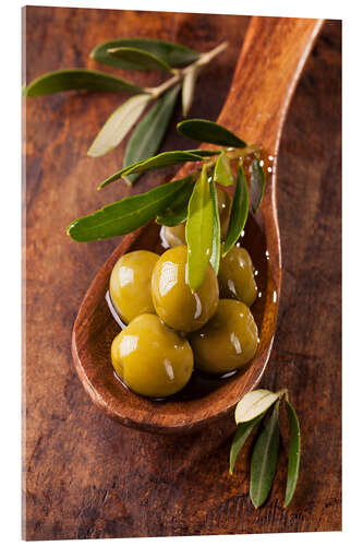
MULTIPOLYGON (((229 216, 226 204, 221 217, 228 207, 229 216)), ((193 293, 184 226, 179 227, 180 244, 170 241, 161 256, 146 250, 124 254, 110 276, 111 301, 126 324, 112 342, 112 366, 124 384, 144 396, 177 393, 193 369, 220 376, 243 368, 257 351, 250 310, 257 286, 249 252, 233 247, 221 258, 218 277, 209 265, 193 293)))

